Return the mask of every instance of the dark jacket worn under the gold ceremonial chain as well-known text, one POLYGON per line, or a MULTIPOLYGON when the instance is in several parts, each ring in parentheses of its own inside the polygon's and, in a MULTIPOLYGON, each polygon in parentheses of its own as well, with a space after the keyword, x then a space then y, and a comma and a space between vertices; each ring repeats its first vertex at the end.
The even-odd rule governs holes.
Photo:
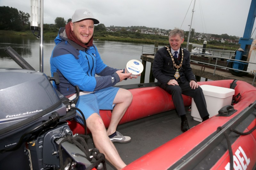
MULTIPOLYGON (((179 55, 181 56, 181 48, 179 55)), ((181 57, 179 57, 179 62, 181 62, 181 57)), ((176 64, 179 65, 180 63, 176 64)), ((154 58, 152 66, 153 76, 159 83, 166 85, 171 79, 176 80, 174 77, 176 70, 177 68, 173 66, 171 55, 167 51, 167 48, 160 48, 154 58)), ((185 81, 190 80, 196 81, 195 75, 190 67, 189 51, 187 49, 183 49, 183 62, 181 68, 179 68, 179 74, 180 77, 177 79, 178 82, 184 83, 185 81)))

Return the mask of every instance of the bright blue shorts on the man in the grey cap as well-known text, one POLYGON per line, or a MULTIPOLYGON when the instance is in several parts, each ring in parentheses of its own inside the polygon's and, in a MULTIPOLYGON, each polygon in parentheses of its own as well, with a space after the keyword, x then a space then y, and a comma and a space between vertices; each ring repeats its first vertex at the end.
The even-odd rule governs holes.
MULTIPOLYGON (((83 112, 85 119, 88 119, 93 113, 100 115, 100 110, 113 109, 115 106, 113 101, 118 90, 118 87, 107 87, 95 92, 89 92, 85 95, 80 95, 76 107, 83 112)), ((83 117, 79 111, 77 111, 75 120, 84 124, 83 117)))

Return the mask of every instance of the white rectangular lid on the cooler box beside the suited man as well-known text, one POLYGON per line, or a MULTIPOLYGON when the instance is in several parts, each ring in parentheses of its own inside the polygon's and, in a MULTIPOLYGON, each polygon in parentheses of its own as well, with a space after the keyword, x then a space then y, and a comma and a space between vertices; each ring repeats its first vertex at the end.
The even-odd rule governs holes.
POLYGON ((224 99, 235 94, 235 90, 230 88, 218 87, 214 85, 200 85, 200 87, 203 89, 204 95, 207 96, 224 99))

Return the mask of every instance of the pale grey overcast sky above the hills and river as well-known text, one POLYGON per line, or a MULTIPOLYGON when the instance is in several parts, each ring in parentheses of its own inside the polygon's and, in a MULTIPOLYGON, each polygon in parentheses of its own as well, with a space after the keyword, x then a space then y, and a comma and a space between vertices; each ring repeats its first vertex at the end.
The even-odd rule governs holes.
MULTIPOLYGON (((196 0, 191 28, 200 33, 243 37, 250 5, 251 0, 196 0)), ((31 15, 30 0, 0 0, 0 6, 31 15)), ((44 0, 44 23, 54 24, 56 17, 68 20, 76 9, 87 8, 106 27, 178 27, 188 31, 193 6, 194 0, 44 0)))

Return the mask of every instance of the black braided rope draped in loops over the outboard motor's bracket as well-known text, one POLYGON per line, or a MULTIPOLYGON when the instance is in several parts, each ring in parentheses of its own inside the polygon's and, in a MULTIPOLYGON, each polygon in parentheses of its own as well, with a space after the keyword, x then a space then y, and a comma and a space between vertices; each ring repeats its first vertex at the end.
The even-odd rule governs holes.
MULTIPOLYGON (((89 137, 85 135, 78 135, 76 137, 67 136, 61 141, 61 143, 69 142, 71 144, 75 144, 82 152, 84 152, 86 156, 76 153, 77 155, 83 156, 89 161, 92 161, 92 158, 90 158, 91 155, 96 159, 96 161, 92 163, 92 165, 86 167, 86 170, 91 170, 92 168, 97 167, 101 162, 103 164, 104 170, 107 169, 106 162, 105 162, 105 155, 103 153, 100 153, 97 148, 92 149, 92 151, 90 152, 85 142, 85 138, 89 138, 89 137)), ((59 144, 60 169, 64 169, 61 143, 59 144)))

